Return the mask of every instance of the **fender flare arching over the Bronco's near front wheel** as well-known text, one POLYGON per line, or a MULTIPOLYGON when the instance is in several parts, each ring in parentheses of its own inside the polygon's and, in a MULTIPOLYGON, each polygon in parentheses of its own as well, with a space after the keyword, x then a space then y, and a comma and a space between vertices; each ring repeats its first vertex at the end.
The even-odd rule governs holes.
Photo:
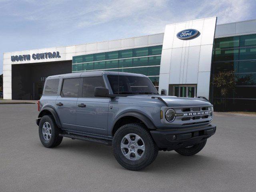
POLYGON ((147 118, 146 116, 144 116, 143 114, 141 113, 138 113, 138 112, 126 112, 120 116, 118 116, 118 118, 115 120, 113 126, 112 126, 112 130, 111 132, 113 131, 114 129, 114 126, 116 125, 116 122, 118 122, 118 120, 120 120, 121 118, 125 117, 125 116, 132 116, 132 117, 136 117, 138 118, 139 120, 141 120, 148 129, 156 129, 156 126, 152 123, 152 121, 147 118))

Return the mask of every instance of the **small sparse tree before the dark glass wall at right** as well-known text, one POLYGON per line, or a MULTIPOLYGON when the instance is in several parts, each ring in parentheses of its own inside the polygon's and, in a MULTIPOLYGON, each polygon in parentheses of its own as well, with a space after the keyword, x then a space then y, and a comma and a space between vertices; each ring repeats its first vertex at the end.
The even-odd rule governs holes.
POLYGON ((220 88, 220 94, 224 97, 225 111, 226 111, 226 98, 228 93, 234 91, 236 85, 236 78, 234 71, 219 72, 214 76, 214 85, 220 88))

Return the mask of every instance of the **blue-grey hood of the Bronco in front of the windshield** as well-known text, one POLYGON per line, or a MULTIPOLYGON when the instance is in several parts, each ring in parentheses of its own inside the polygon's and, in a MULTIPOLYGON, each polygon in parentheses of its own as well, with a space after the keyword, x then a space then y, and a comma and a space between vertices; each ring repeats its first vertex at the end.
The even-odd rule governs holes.
MULTIPOLYGON (((176 97, 176 96, 162 96, 162 95, 132 95, 128 97, 134 98, 148 98, 159 97, 168 104, 168 106, 203 106, 210 105, 211 103, 201 98, 188 98, 188 97, 176 97)), ((155 98, 156 99, 156 98, 155 98)))

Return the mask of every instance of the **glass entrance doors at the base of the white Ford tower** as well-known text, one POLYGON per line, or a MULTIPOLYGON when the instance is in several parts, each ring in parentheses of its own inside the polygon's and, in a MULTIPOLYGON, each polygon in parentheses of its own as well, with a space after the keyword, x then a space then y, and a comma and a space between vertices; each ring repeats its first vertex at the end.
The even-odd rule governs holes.
POLYGON ((197 85, 173 85, 169 95, 177 97, 196 97, 197 85))

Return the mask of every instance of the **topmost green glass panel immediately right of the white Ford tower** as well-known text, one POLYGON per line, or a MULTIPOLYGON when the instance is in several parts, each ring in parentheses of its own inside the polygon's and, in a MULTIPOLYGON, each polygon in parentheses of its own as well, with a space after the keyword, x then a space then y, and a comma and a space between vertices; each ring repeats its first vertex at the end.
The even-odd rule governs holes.
POLYGON ((214 40, 214 48, 215 49, 226 49, 233 48, 239 46, 239 37, 225 37, 225 38, 217 38, 214 40))

